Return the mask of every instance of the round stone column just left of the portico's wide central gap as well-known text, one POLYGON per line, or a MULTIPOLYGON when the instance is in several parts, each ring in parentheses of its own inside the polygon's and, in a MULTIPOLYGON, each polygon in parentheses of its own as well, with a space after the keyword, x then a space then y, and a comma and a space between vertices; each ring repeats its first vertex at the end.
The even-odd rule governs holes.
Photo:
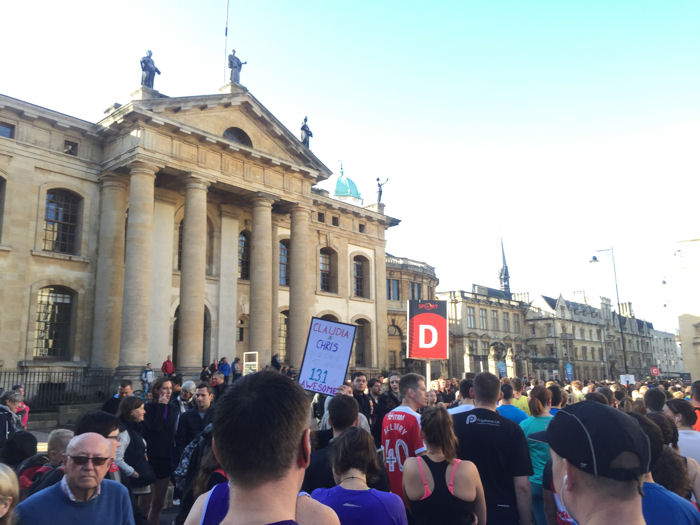
POLYGON ((207 276, 207 187, 197 177, 185 179, 185 218, 182 226, 182 269, 178 317, 179 369, 202 366, 204 296, 207 276))

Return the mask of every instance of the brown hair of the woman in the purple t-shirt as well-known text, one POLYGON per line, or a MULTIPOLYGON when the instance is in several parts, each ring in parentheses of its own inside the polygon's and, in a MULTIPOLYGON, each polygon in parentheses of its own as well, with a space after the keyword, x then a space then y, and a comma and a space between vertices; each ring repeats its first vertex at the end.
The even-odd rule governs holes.
POLYGON ((347 429, 333 440, 331 465, 338 475, 356 468, 367 475, 370 483, 377 480, 381 467, 372 435, 357 427, 347 429))

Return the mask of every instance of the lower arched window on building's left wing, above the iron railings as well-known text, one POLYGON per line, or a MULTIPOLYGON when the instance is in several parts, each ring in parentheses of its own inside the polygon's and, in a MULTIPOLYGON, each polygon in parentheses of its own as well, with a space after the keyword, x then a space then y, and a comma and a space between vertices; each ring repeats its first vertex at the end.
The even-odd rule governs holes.
POLYGON ((36 304, 34 357, 69 357, 73 296, 71 290, 62 286, 47 286, 39 290, 36 304))

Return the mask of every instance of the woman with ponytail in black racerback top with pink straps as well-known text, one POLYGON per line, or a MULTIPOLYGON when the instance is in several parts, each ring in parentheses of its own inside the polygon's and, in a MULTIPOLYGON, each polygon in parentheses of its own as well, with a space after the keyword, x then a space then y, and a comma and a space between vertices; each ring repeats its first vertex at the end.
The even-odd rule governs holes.
POLYGON ((420 424, 427 452, 403 465, 403 492, 415 523, 486 523, 479 471, 471 461, 457 459, 452 416, 442 406, 426 407, 420 424))

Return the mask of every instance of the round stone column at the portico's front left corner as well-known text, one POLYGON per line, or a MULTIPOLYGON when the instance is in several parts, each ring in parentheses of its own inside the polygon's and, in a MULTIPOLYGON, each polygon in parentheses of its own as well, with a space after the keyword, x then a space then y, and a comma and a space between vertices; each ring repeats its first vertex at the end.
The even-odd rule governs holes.
POLYGON ((158 168, 137 161, 129 166, 129 214, 124 268, 119 367, 122 375, 138 374, 148 352, 153 263, 154 183, 158 168))

